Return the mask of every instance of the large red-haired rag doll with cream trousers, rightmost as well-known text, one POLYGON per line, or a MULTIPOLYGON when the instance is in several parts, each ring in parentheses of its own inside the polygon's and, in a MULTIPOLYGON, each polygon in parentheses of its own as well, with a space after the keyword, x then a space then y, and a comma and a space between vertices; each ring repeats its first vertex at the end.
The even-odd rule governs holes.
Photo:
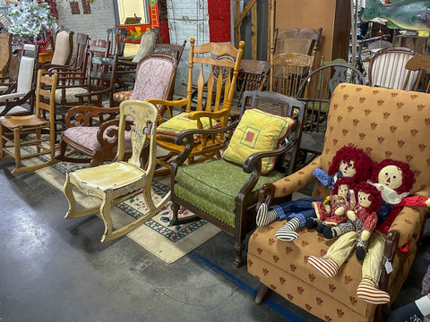
MULTIPOLYGON (((390 301, 390 295, 379 290, 377 285, 382 271, 383 248, 390 226, 403 206, 429 207, 430 199, 421 196, 408 197, 415 182, 415 176, 409 165, 404 162, 384 159, 372 167, 368 182, 381 191, 383 206, 378 211, 378 223, 367 245, 367 255, 363 260, 362 279, 357 287, 357 296, 369 303, 383 304, 390 301)), ((339 267, 355 248, 356 237, 356 232, 340 235, 323 258, 310 256, 308 263, 325 277, 336 275, 339 267)))

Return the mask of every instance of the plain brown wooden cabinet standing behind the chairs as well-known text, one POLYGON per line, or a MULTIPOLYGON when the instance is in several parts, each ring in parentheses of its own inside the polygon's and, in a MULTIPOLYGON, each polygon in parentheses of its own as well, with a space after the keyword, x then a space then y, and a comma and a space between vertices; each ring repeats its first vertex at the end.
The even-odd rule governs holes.
MULTIPOLYGON (((275 28, 323 28, 320 55, 326 61, 348 60, 351 6, 349 0, 278 0, 275 28)), ((319 64, 317 57, 316 64, 319 64)))

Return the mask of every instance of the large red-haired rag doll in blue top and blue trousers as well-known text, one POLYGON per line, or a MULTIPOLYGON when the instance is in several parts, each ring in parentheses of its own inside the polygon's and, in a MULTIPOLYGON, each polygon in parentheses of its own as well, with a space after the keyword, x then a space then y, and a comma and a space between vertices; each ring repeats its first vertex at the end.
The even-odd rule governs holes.
MULTIPOLYGON (((372 159, 361 148, 345 146, 336 152, 328 172, 315 169, 313 175, 332 190, 334 182, 341 177, 352 177, 356 182, 366 181, 371 167, 372 159)), ((317 223, 312 206, 314 201, 323 201, 323 199, 291 200, 280 205, 271 206, 269 209, 266 204, 262 203, 257 210, 257 226, 265 226, 275 220, 287 219, 287 223, 280 227, 275 236, 281 241, 295 241, 298 237, 297 229, 304 227, 306 220, 312 218, 317 223)))

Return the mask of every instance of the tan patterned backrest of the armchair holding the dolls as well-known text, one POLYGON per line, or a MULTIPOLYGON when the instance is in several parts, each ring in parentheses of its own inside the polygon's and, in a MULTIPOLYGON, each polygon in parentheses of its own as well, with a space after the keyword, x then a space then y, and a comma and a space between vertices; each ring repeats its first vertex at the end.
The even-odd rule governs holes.
MULTIPOLYGON (((426 93, 340 84, 331 97, 322 168, 328 170, 338 149, 355 146, 374 162, 385 158, 407 162, 416 177, 411 192, 429 185, 429 102, 426 93)), ((315 183, 314 196, 328 192, 315 183)))

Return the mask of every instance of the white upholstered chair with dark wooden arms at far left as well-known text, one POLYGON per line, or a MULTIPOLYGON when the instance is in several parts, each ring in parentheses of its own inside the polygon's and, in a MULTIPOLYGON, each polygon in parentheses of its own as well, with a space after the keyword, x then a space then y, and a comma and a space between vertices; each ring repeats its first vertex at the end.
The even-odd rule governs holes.
POLYGON ((0 92, 0 116, 33 114, 37 57, 37 45, 24 45, 17 80, 2 78, 0 85, 5 89, 0 92))

